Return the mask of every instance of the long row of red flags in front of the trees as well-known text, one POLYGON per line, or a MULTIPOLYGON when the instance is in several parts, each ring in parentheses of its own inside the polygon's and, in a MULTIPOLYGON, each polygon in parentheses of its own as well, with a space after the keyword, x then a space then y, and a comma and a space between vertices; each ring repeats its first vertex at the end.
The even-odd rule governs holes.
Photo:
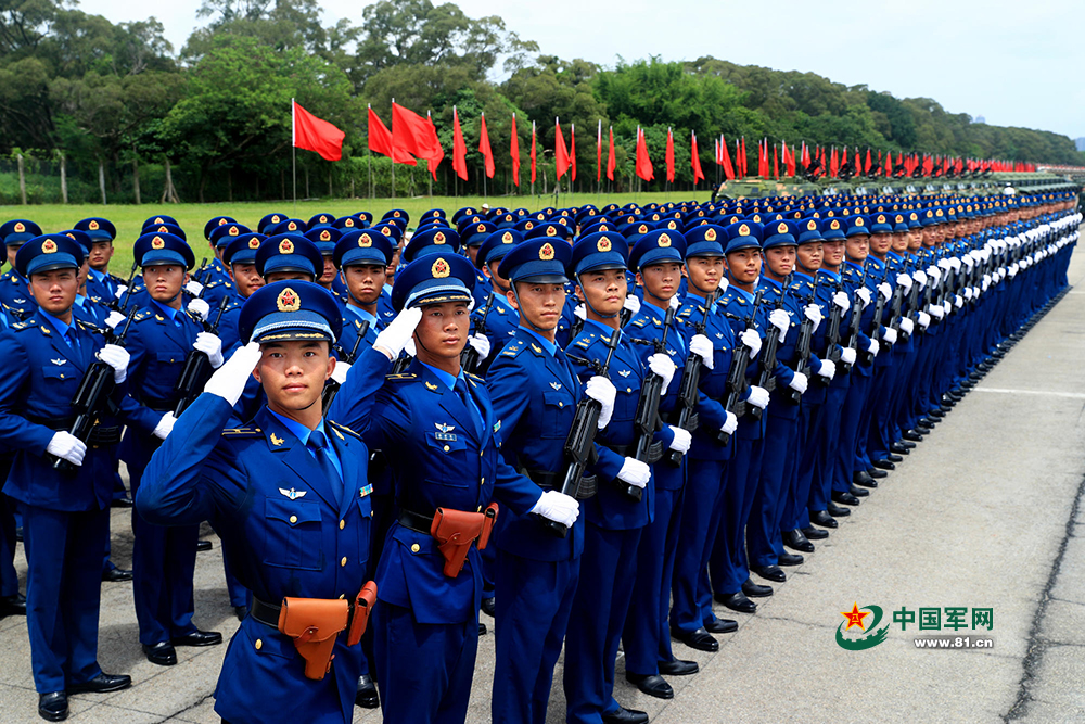
MULTIPOLYGON (((293 103, 293 144, 301 149, 307 149, 319 153, 328 161, 339 161, 342 157, 342 145, 344 134, 339 128, 322 120, 305 109, 293 103)), ((372 107, 369 109, 369 149, 374 153, 388 156, 395 163, 417 165, 418 161, 425 161, 429 170, 434 179, 437 177, 437 166, 445 157, 445 152, 441 148, 437 138, 437 129, 433 125, 433 118, 426 113, 422 117, 392 101, 392 129, 384 125, 372 107)), ((614 129, 608 130, 608 155, 607 165, 603 166, 603 132, 602 122, 599 122, 596 131, 596 181, 602 180, 605 168, 607 178, 614 180, 616 162, 614 158, 614 129)), ((509 155, 512 160, 512 180, 520 186, 520 138, 516 134, 516 115, 512 114, 511 142, 509 155)), ((570 181, 576 180, 576 125, 569 129, 569 145, 565 145, 565 137, 561 130, 561 123, 554 118, 554 165, 558 179, 566 173, 570 181)), ((536 128, 532 122, 532 145, 528 156, 531 158, 531 180, 536 178, 536 128)), ((644 138, 644 130, 637 128, 635 172, 637 176, 646 181, 654 180, 655 173, 652 161, 648 155, 648 143, 644 138)), ((750 176, 746 167, 746 144, 745 138, 735 141, 735 162, 731 162, 730 148, 723 134, 715 140, 716 164, 723 167, 724 176, 728 180, 744 178, 750 176)), ((486 130, 486 114, 480 118, 478 129, 478 153, 482 154, 486 178, 494 178, 494 152, 489 143, 489 132, 486 130)), ((667 128, 667 141, 664 162, 666 164, 666 180, 675 180, 675 154, 674 134, 667 128)), ((830 147, 810 147, 805 142, 801 144, 799 157, 795 157, 794 145, 789 147, 787 142, 779 145, 769 143, 764 139, 757 143, 757 176, 762 178, 780 178, 782 166, 784 176, 796 175, 799 165, 805 168, 817 168, 820 174, 830 178, 839 178, 841 172, 854 172, 855 176, 869 176, 872 170, 884 169, 886 177, 894 175, 912 176, 916 169, 920 169, 921 176, 936 177, 967 172, 1034 172, 1035 164, 1013 161, 987 161, 979 158, 961 158, 955 156, 941 156, 931 154, 918 154, 898 152, 896 158, 893 152, 877 152, 877 157, 871 149, 866 150, 864 157, 858 148, 848 149, 843 147, 837 149, 830 147), (771 155, 769 148, 771 147, 771 155), (848 151, 852 156, 848 158, 848 151), (770 165, 771 163, 771 165, 770 165)), ((690 166, 693 170, 693 183, 704 180, 704 173, 701 169, 701 158, 697 147, 697 134, 690 131, 690 166)), ((463 131, 460 128, 459 111, 452 106, 452 170, 456 175, 468 180, 467 166, 467 144, 463 141, 463 131)))

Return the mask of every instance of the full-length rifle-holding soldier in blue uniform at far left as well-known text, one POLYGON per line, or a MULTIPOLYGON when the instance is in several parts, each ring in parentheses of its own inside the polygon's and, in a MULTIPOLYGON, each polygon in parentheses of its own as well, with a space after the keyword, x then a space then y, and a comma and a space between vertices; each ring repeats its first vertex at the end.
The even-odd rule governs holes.
POLYGON ((27 241, 16 255, 37 310, 4 332, 10 369, 0 380, 0 446, 17 450, 3 492, 22 505, 28 563, 27 627, 38 713, 67 716, 67 695, 116 691, 128 676, 98 665, 102 550, 108 535, 119 422, 101 416, 84 442, 65 429, 71 399, 97 356, 113 368, 111 397, 124 411, 128 353, 103 345, 72 305, 82 247, 62 234, 27 241), (62 458, 77 469, 53 467, 62 458))

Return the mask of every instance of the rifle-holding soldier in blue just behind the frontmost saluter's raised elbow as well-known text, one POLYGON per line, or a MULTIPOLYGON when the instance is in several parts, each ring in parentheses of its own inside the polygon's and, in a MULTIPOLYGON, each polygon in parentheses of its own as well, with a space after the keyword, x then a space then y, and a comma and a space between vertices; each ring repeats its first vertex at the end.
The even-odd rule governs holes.
MULTIPOLYGON (((220 367, 222 341, 181 307, 181 290, 195 264, 188 243, 170 233, 146 233, 137 240, 133 254, 151 301, 136 313, 128 338, 129 389, 139 407, 120 457, 138 495, 148 461, 176 421, 176 388, 189 356, 204 354, 213 369, 220 367)), ((200 631, 192 623, 199 525, 164 528, 133 513, 132 532, 136 618, 143 655, 151 663, 170 666, 177 663, 177 646, 221 644, 221 634, 200 631)))

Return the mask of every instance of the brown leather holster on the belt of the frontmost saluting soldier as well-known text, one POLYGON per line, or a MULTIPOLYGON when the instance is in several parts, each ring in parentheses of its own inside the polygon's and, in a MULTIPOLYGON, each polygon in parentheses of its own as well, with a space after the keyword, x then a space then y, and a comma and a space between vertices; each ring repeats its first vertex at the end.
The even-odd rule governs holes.
POLYGON ((345 598, 283 598, 279 631, 294 639, 294 648, 305 659, 305 677, 322 679, 332 668, 335 637, 348 631, 347 646, 366 633, 369 614, 376 604, 376 584, 362 586, 354 601, 345 598))

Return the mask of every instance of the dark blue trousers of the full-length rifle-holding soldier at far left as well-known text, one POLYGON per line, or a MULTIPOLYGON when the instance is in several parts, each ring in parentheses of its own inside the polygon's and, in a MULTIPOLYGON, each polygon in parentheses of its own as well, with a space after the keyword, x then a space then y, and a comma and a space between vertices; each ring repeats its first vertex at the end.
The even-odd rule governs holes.
POLYGON ((102 673, 98 613, 110 510, 23 508, 28 563, 26 627, 38 694, 63 691, 102 673))

